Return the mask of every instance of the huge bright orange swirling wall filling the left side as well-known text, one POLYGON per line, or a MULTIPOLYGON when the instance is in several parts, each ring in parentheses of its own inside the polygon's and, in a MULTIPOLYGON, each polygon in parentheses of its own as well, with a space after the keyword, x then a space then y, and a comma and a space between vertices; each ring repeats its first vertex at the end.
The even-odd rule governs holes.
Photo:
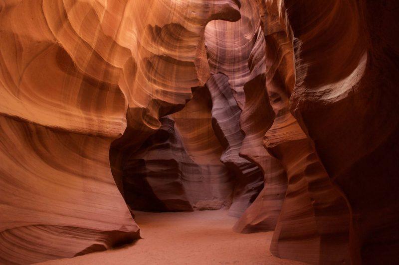
POLYGON ((110 145, 127 125, 142 144, 191 98, 209 76, 205 24, 237 20, 238 9, 238 0, 0 2, 1 263, 139 238, 110 145))

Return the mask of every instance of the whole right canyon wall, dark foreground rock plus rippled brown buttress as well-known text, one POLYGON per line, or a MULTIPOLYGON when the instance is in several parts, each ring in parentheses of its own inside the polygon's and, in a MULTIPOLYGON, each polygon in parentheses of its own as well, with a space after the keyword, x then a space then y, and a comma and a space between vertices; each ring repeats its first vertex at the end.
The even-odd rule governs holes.
POLYGON ((288 176, 271 252, 397 263, 398 4, 258 2, 276 112, 264 146, 288 176))

